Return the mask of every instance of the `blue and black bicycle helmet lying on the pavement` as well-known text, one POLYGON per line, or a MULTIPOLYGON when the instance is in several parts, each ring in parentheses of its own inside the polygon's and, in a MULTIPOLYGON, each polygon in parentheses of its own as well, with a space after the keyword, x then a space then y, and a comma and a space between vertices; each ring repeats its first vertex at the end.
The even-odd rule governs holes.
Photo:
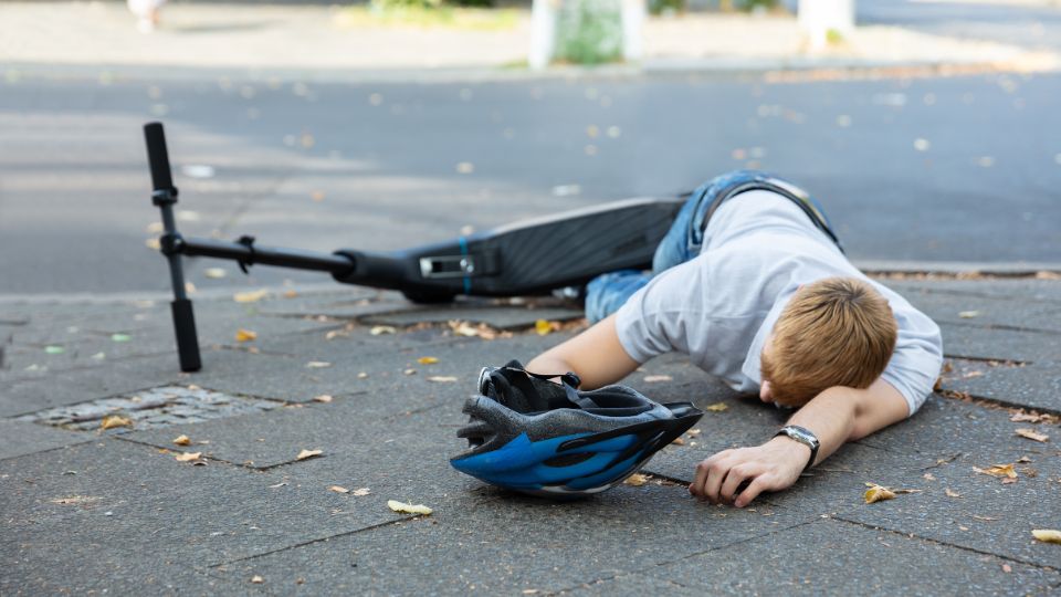
POLYGON ((661 405, 626 386, 578 391, 578 376, 532 374, 516 360, 480 374, 480 396, 458 431, 469 450, 454 469, 534 495, 605 491, 638 471, 703 416, 690 402, 661 405), (558 377, 560 384, 548 379, 558 377))

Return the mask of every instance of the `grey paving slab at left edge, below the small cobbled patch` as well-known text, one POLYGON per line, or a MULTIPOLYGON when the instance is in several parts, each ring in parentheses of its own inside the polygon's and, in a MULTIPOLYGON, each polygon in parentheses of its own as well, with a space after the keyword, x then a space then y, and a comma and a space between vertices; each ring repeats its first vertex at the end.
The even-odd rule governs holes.
MULTIPOLYGON (((363 465, 370 476, 371 463, 363 465)), ((4 522, 20 541, 102 542, 144 565, 164 558, 204 569, 402 517, 328 491, 325 480, 283 484, 276 474, 196 467, 117 439, 0 461, 0 481, 4 522)), ((65 558, 61 551, 36 567, 73 569, 65 558)))

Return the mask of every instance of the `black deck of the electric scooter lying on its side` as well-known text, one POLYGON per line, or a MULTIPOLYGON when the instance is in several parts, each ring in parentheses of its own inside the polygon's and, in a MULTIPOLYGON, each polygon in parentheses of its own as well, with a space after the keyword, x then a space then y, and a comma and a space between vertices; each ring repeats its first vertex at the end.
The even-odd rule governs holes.
POLYGON ((546 293, 605 272, 650 269, 683 203, 673 197, 626 199, 405 251, 339 250, 355 266, 333 275, 400 290, 420 302, 546 293))

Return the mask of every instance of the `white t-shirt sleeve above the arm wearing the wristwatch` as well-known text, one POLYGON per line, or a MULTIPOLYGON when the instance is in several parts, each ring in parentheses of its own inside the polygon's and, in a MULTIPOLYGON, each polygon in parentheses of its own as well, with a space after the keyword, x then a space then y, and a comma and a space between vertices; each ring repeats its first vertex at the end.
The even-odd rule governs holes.
POLYGON ((943 366, 943 338, 939 326, 927 315, 904 305, 896 312, 899 337, 895 353, 881 378, 892 385, 910 407, 910 413, 925 404, 943 366))

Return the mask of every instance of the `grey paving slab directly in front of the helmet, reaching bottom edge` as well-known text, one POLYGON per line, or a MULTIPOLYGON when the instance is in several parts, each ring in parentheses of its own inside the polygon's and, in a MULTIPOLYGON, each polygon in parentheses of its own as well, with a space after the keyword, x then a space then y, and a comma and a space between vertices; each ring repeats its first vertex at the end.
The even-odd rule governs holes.
POLYGON ((725 547, 802 520, 747 511, 713 514, 681 488, 651 484, 569 503, 514 494, 469 503, 456 496, 427 519, 223 568, 237 577, 262 574, 282 587, 277 591, 308 595, 548 593, 725 547), (297 578, 304 584, 296 585, 297 578))

